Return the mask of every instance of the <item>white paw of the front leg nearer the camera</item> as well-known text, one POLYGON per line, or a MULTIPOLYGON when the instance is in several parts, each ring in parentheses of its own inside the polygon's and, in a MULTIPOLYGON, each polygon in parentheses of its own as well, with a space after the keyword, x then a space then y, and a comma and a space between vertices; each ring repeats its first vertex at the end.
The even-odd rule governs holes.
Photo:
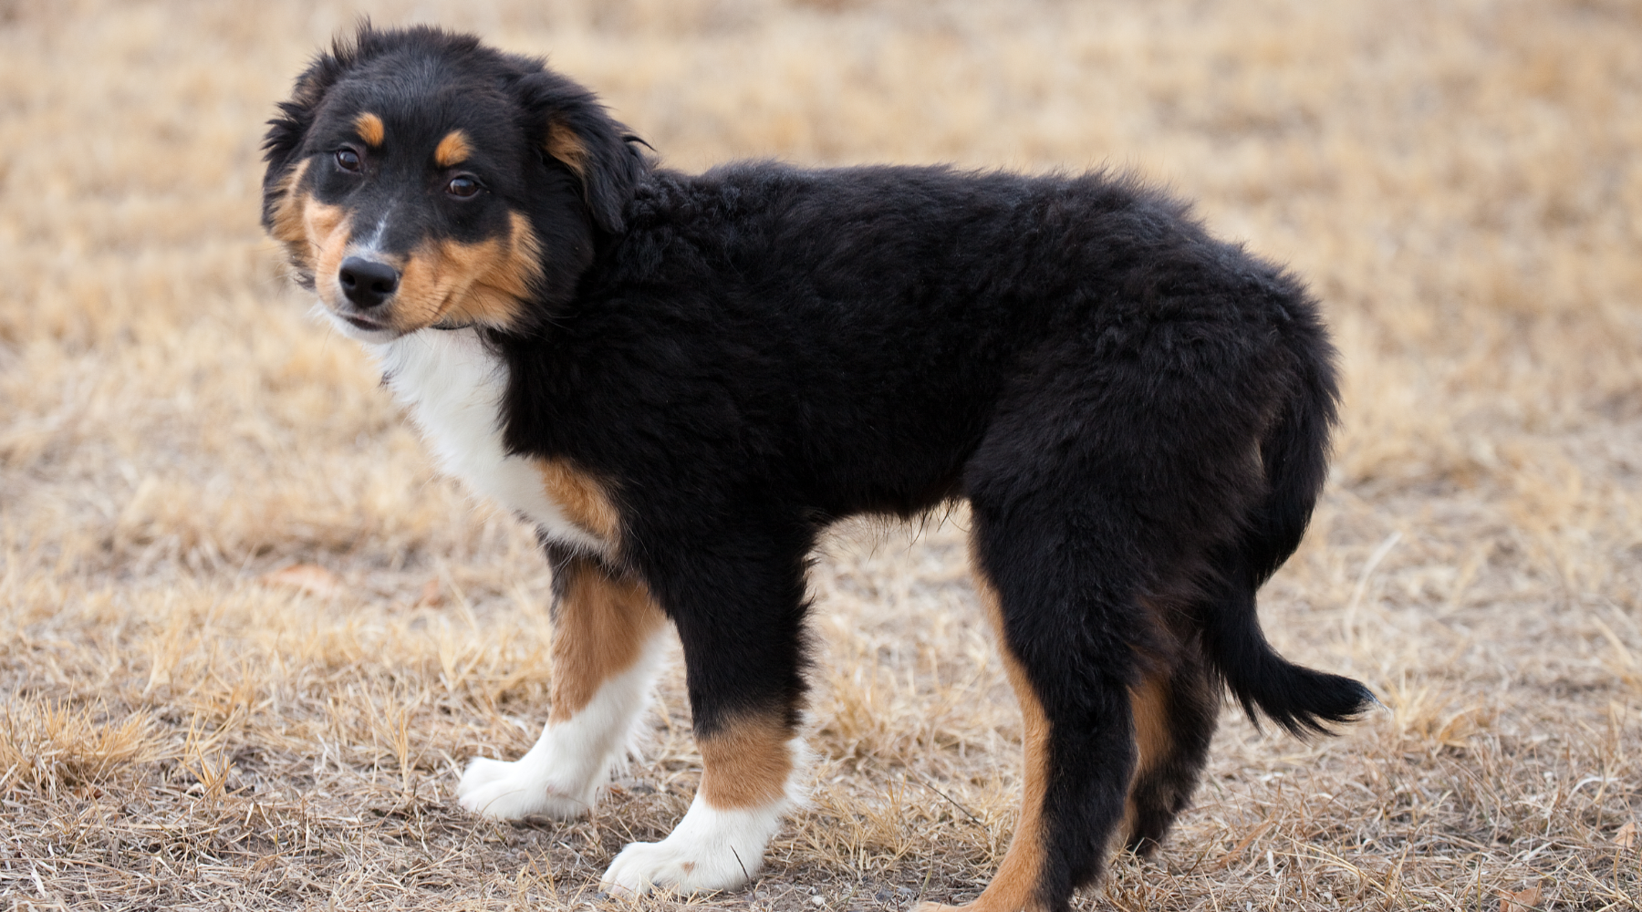
POLYGON ((604 871, 599 889, 622 897, 655 887, 678 892, 736 889, 764 866, 764 846, 780 828, 787 804, 714 810, 696 796, 665 840, 629 843, 604 871))

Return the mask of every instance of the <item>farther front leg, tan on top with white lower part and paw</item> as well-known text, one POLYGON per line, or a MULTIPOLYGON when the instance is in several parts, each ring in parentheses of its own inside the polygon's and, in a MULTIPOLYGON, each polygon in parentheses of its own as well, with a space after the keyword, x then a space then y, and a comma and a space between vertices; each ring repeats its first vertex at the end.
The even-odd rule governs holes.
POLYGON ((593 807, 644 710, 667 643, 645 586, 601 563, 548 551, 553 563, 553 709, 522 758, 475 758, 456 796, 501 820, 578 817, 593 807))

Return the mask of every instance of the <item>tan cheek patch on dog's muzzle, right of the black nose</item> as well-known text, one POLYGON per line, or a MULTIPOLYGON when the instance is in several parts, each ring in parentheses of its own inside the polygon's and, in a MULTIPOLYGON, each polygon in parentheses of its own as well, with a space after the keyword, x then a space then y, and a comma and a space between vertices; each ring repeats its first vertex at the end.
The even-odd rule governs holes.
POLYGON ((519 212, 511 217, 507 236, 422 244, 399 277, 394 328, 409 333, 448 320, 506 330, 540 274, 542 243, 519 212))

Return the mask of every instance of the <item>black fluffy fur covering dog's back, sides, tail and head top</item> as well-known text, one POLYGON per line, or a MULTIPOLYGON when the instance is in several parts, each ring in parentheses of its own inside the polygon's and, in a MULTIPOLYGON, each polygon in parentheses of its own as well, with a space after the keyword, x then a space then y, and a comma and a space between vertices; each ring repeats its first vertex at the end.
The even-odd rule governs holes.
POLYGON ((425 30, 322 57, 269 135, 271 194, 325 148, 304 146, 325 90, 392 59, 499 82, 496 130, 517 123, 525 149, 573 123, 589 151, 580 180, 527 153, 514 176, 540 174, 499 180, 553 239, 522 318, 484 330, 509 376, 499 420, 511 451, 608 486, 604 559, 675 622, 699 733, 796 722, 828 523, 952 500, 1053 730, 1044 907, 1097 876, 1126 799, 1131 845, 1163 837, 1222 682, 1291 730, 1371 699, 1276 656, 1254 615, 1322 487, 1337 400, 1317 303, 1282 269, 1107 174, 654 167, 575 84, 425 30), (1172 694, 1172 753, 1135 779, 1149 677, 1172 694))

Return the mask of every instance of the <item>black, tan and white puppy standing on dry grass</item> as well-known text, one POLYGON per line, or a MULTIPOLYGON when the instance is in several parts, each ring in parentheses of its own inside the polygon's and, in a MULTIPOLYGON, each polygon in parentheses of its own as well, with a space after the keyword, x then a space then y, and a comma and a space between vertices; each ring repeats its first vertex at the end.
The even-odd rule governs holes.
POLYGON ((1294 733, 1374 700, 1277 656, 1254 594, 1327 472, 1302 284, 1108 174, 660 167, 544 61, 338 39, 264 143, 263 223, 442 467, 553 577, 548 720, 475 814, 586 814, 686 661, 701 786, 603 889, 734 889, 803 779, 806 561, 839 518, 964 500, 1025 722, 982 912, 1061 910, 1187 805, 1230 691, 1294 733))

